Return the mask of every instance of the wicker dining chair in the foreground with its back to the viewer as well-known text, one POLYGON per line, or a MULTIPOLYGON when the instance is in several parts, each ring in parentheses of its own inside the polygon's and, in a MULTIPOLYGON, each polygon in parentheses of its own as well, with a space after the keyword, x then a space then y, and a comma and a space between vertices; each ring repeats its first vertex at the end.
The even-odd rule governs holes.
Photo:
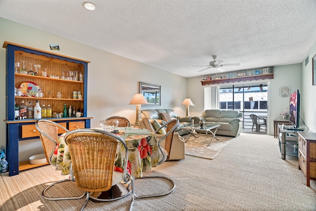
MULTIPOLYGON (((128 149, 125 141, 111 133, 98 129, 76 129, 65 135, 72 160, 73 175, 77 187, 86 195, 85 203, 89 199, 94 202, 108 202, 119 200, 129 195, 132 191, 133 178, 127 173, 128 149), (114 171, 114 163, 118 142, 125 149, 123 172, 114 171), (111 191, 115 185, 122 192, 118 197, 103 197, 106 191, 111 191), (125 188, 125 192, 122 191, 125 188)), ((130 203, 129 210, 133 203, 130 203)))

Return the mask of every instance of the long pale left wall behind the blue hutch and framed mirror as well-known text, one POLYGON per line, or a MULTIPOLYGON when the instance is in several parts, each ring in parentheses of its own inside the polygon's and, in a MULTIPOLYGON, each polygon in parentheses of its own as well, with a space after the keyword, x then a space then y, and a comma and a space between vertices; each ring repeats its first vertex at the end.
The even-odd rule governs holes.
MULTIPOLYGON (((186 78, 3 18, 0 18, 0 32, 2 44, 8 41, 46 51, 50 51, 49 44, 59 44, 60 51, 54 53, 91 62, 87 97, 87 116, 93 117, 91 127, 99 127, 100 119, 113 115, 125 116, 134 123, 136 107, 128 103, 138 93, 139 82, 161 85, 161 107, 142 107, 143 110, 171 108, 179 116, 185 116, 185 106, 181 103, 187 97, 186 78)), ((0 49, 0 87, 0 119, 5 120, 5 48, 0 49)), ((1 121, 0 146, 5 146, 5 128, 5 122, 1 121)), ((20 161, 42 153, 40 141, 21 141, 20 152, 23 152, 20 161)))

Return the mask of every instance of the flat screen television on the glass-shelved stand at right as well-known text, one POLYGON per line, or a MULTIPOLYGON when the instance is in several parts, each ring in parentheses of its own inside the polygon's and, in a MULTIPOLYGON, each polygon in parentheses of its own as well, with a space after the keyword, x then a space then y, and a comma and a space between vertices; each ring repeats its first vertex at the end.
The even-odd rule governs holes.
POLYGON ((300 92, 298 90, 290 95, 290 123, 293 128, 288 129, 300 127, 300 92))

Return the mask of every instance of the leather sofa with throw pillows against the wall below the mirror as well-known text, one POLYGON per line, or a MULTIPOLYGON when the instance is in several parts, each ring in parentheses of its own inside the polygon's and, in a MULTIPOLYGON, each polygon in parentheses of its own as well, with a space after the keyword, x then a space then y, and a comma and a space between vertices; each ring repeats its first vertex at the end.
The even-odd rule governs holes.
MULTIPOLYGON (((162 122, 168 122, 163 118, 161 113, 168 113, 169 116, 172 118, 177 118, 179 120, 179 126, 175 130, 175 132, 178 132, 179 135, 187 134, 189 133, 187 130, 182 130, 182 127, 191 126, 192 125, 192 117, 179 117, 173 109, 149 109, 149 110, 142 110, 141 112, 141 118, 147 117, 152 123, 154 120, 156 120, 160 125, 162 125, 162 122)), ((140 125, 142 127, 142 125, 140 125)), ((142 128, 146 128, 143 127, 142 128)), ((150 128, 147 128, 150 129, 150 128)), ((155 128, 152 128, 155 131, 155 128)), ((157 128, 156 128, 157 129, 157 128)))

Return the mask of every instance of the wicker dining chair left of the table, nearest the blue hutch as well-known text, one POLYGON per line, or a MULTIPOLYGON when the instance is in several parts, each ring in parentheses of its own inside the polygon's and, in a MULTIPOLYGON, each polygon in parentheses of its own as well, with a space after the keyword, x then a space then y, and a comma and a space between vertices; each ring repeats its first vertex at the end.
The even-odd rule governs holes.
MULTIPOLYGON (((69 130, 55 122, 49 121, 49 120, 38 120, 35 123, 35 127, 38 129, 40 134, 40 141, 44 149, 45 157, 48 163, 51 164, 51 157, 55 151, 55 148, 58 143, 58 127, 65 130, 65 132, 69 132, 69 130)), ((65 199, 80 199, 84 195, 79 197, 48 197, 45 195, 46 191, 51 188, 52 186, 69 181, 71 178, 62 179, 56 182, 53 182, 49 186, 47 186, 41 193, 41 196, 46 200, 65 200, 65 199)))

